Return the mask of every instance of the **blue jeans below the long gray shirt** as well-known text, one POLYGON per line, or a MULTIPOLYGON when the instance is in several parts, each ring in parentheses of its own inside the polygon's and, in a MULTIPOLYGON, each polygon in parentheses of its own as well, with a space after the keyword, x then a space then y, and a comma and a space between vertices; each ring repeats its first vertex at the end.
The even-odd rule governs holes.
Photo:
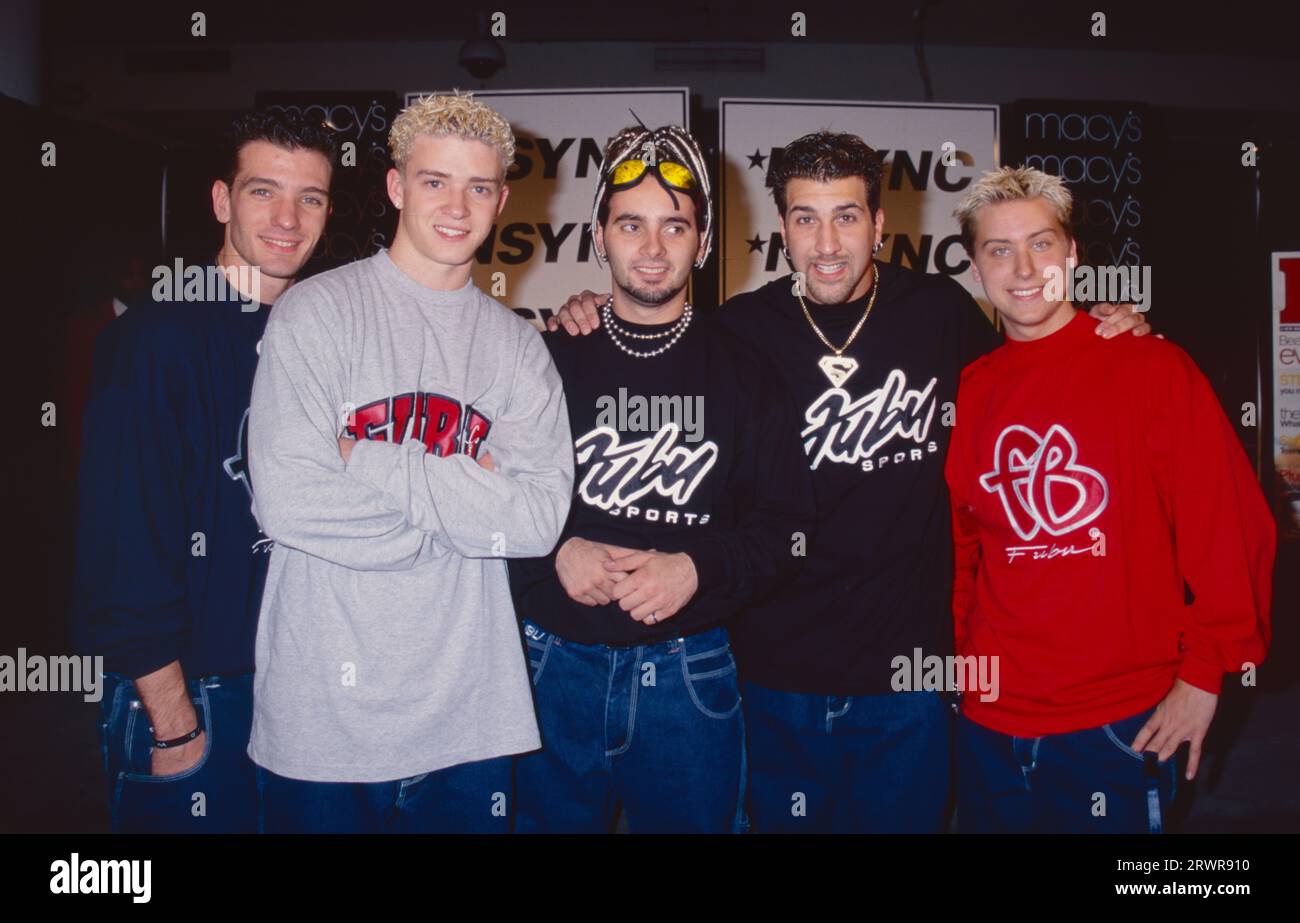
POLYGON ((261 766, 264 833, 508 833, 511 758, 386 783, 315 783, 261 766))

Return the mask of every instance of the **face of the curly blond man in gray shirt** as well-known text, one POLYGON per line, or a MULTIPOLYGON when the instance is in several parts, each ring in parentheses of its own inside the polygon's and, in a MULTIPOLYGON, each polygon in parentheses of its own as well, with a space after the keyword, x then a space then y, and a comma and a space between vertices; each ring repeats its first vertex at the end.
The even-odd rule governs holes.
POLYGON ((387 183, 402 212, 393 261, 430 289, 462 287, 510 194, 500 155, 481 140, 419 135, 387 183))

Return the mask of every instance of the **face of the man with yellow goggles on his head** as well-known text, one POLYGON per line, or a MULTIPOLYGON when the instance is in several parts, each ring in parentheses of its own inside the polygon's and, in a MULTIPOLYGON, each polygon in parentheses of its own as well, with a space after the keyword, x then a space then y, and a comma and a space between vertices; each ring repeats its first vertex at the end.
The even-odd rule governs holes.
POLYGON ((610 263, 615 309, 668 306, 680 311, 690 268, 705 251, 690 196, 670 195, 656 179, 646 178, 611 195, 608 207, 608 220, 595 229, 595 244, 610 263))

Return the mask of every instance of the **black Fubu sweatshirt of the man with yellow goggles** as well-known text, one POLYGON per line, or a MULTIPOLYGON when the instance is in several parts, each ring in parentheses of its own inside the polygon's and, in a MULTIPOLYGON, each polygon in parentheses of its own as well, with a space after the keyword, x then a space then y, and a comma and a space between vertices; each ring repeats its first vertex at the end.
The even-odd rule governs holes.
MULTIPOLYGON (((618 324, 636 333, 672 326, 618 324)), ((655 644, 720 625, 793 577, 803 560, 794 533, 812 532, 811 485, 789 438, 793 407, 754 356, 698 313, 676 344, 647 359, 619 350, 603 326, 543 339, 564 381, 573 506, 549 556, 510 562, 521 619, 578 644, 655 644), (684 551, 699 589, 655 625, 618 602, 575 602, 555 572, 556 551, 575 536, 684 551)), ((637 352, 666 342, 620 339, 637 352)))

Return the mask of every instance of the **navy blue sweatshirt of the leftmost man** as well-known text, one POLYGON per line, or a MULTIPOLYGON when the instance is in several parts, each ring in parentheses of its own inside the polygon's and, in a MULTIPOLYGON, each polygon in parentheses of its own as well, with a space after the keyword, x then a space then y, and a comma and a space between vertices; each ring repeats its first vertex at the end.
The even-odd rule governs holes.
POLYGON ((244 455, 270 307, 242 307, 144 300, 95 343, 73 629, 105 671, 252 672, 270 542, 244 455))

